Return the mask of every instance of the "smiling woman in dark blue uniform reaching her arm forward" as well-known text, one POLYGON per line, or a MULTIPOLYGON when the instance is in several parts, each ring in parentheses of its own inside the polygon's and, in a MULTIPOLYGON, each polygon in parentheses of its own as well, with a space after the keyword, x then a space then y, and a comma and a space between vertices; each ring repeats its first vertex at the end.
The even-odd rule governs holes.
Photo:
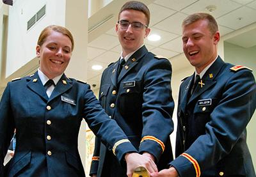
POLYGON ((85 176, 77 150, 83 118, 119 161, 125 158, 127 173, 137 165, 156 168, 149 158, 139 163, 141 155, 134 153, 124 132, 108 118, 90 86, 65 75, 73 48, 65 27, 46 27, 36 46, 38 71, 7 84, 0 103, 0 176, 4 171, 7 176, 85 176), (4 169, 14 128, 15 155, 4 169))

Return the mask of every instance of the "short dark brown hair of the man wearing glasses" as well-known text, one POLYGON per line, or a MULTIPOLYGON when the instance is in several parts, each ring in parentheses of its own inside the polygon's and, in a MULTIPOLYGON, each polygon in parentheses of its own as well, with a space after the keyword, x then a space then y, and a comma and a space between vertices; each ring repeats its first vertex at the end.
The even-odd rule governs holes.
POLYGON ((147 26, 149 25, 150 12, 149 12, 148 7, 145 4, 141 3, 140 1, 128 1, 120 9, 120 11, 118 13, 118 20, 119 20, 119 17, 120 17, 120 13, 122 13, 125 10, 137 10, 137 11, 140 11, 140 12, 144 13, 146 18, 147 18, 147 26))

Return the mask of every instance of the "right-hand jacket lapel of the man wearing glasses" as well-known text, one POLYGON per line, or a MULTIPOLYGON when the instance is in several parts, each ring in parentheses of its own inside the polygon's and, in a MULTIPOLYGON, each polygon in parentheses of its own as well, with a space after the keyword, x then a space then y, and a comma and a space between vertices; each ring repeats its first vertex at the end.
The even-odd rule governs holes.
POLYGON ((145 56, 145 54, 147 54, 147 52, 148 52, 147 48, 145 47, 145 45, 143 45, 143 47, 141 47, 134 54, 132 54, 132 56, 127 60, 127 62, 123 66, 120 74, 118 75, 118 79, 117 79, 118 83, 129 72, 129 70, 131 70, 134 66, 136 66, 138 64, 140 59, 143 56, 145 56))

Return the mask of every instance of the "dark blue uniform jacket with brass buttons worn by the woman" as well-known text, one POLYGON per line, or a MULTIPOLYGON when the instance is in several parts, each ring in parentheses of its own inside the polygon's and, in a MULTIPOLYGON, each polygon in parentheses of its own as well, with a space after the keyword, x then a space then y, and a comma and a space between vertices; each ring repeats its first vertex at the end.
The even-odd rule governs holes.
POLYGON ((50 98, 37 72, 8 82, 0 112, 0 176, 14 128, 16 149, 7 176, 85 176, 77 150, 83 118, 108 148, 115 146, 118 160, 127 151, 136 151, 108 118, 90 86, 64 74, 50 98))

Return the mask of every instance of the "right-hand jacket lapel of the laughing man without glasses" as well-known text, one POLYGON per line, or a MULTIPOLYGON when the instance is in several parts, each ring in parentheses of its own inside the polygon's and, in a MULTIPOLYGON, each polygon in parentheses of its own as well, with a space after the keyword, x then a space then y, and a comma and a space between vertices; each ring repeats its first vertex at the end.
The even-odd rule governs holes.
POLYGON ((191 95, 191 98, 189 99, 188 104, 193 102, 198 96, 202 95, 205 91, 207 91, 209 88, 212 87, 212 85, 216 84, 216 81, 214 78, 218 75, 218 72, 220 72, 221 67, 224 65, 223 60, 220 58, 220 56, 214 61, 212 66, 205 72, 204 77, 202 78, 202 82, 204 85, 201 87, 200 84, 196 87, 193 95, 191 95))

